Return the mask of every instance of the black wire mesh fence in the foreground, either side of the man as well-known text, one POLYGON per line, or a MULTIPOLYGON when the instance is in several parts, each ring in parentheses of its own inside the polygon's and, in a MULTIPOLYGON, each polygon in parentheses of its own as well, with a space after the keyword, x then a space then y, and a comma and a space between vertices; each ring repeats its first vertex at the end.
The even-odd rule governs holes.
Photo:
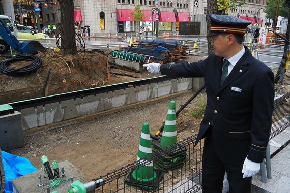
MULTIPOLYGON (((274 101, 270 139, 290 126, 290 93, 274 101)), ((196 135, 104 176, 93 179, 96 192, 198 192, 202 182, 202 147, 196 135), (150 171, 153 163, 154 172, 150 171)), ((152 141, 157 147, 159 141, 152 141)), ((261 176, 263 181, 263 175, 261 176)), ((265 182, 266 183, 266 182, 265 182)), ((90 184, 90 182, 89 182, 90 184)))

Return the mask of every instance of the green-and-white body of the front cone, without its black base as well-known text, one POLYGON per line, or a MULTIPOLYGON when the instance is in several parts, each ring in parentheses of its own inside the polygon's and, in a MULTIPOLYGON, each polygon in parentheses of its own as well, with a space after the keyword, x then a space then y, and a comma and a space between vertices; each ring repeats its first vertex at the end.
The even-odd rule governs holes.
POLYGON ((134 180, 141 182, 150 182, 157 177, 156 172, 153 170, 153 162, 144 160, 146 156, 152 154, 151 139, 149 124, 143 123, 142 133, 137 157, 137 169, 133 171, 132 177, 134 180), (142 159, 142 160, 140 160, 142 159))

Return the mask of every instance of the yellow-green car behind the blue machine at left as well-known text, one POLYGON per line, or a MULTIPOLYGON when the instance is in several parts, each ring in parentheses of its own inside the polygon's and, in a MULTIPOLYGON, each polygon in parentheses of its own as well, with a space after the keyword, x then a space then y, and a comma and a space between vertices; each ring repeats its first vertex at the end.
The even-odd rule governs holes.
POLYGON ((39 33, 35 30, 33 30, 30 27, 26 27, 24 25, 17 24, 16 25, 18 29, 18 39, 44 39, 49 38, 48 35, 39 33))

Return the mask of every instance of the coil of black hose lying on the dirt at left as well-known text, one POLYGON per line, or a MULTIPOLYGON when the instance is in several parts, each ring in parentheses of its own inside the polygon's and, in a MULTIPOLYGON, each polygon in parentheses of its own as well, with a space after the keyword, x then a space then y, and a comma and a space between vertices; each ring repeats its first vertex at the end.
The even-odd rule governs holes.
POLYGON ((33 54, 16 55, 6 60, 3 60, 0 63, 0 74, 6 74, 10 76, 22 76, 22 75, 34 72, 37 69, 39 69, 39 67, 41 66, 41 63, 42 63, 41 59, 33 54), (11 63, 16 62, 16 61, 22 61, 22 60, 32 61, 32 63, 30 63, 30 65, 20 67, 17 69, 9 68, 11 63))

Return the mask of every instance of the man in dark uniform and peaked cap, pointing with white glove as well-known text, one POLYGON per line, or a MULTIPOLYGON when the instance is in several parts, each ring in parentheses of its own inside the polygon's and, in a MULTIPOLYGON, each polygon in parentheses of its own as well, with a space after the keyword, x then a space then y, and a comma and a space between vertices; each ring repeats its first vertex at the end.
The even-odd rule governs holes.
POLYGON ((228 15, 210 19, 214 53, 205 60, 143 66, 170 77, 204 77, 207 107, 195 143, 205 137, 202 190, 222 192, 226 172, 229 192, 250 192, 269 141, 274 75, 242 45, 251 22, 228 15))

